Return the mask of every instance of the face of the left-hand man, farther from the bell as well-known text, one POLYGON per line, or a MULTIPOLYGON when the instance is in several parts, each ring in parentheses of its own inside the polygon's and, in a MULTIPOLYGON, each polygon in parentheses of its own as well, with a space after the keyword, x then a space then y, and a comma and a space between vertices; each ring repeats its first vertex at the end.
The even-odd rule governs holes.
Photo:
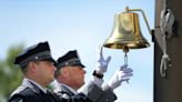
POLYGON ((36 64, 37 79, 40 83, 49 84, 54 79, 55 67, 52 62, 48 61, 38 61, 36 64))

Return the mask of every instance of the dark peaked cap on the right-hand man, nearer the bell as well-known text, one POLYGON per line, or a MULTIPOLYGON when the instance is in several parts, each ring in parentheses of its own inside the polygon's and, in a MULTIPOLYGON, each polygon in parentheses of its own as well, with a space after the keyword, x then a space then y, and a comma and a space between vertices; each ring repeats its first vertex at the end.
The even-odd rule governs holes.
POLYGON ((57 60, 57 68, 62 68, 62 67, 67 67, 67 65, 71 65, 71 67, 80 65, 80 67, 84 68, 84 65, 81 63, 81 60, 79 58, 77 50, 69 51, 63 57, 60 57, 57 60))

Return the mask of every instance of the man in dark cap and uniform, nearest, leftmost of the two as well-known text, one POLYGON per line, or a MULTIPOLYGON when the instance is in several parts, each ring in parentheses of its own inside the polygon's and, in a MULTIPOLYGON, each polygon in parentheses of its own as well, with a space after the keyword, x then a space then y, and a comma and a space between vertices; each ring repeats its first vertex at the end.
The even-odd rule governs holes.
POLYGON ((46 89, 54 80, 54 63, 47 41, 19 53, 14 64, 20 65, 24 79, 8 102, 91 102, 84 94, 64 99, 46 89))

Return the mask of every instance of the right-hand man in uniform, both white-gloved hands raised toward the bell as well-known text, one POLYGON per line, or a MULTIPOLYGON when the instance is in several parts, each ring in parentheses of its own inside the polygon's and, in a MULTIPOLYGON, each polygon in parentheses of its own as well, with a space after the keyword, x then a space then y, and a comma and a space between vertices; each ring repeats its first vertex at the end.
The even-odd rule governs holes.
MULTIPOLYGON (((97 61, 97 67, 93 72, 92 80, 84 84, 84 65, 81 63, 79 58, 78 51, 69 51, 64 55, 60 57, 57 60, 57 72, 55 72, 55 80, 58 81, 59 85, 54 89, 54 92, 69 99, 78 93, 84 93, 92 102, 113 102, 117 100, 117 95, 113 93, 113 89, 118 88, 121 84, 121 80, 117 80, 118 78, 113 78, 110 80, 111 84, 107 84, 101 88, 103 83, 103 73, 107 72, 108 63, 110 62, 111 57, 103 59, 102 55, 102 48, 99 49, 99 59, 97 61), (83 85, 84 84, 84 85, 83 85), (115 85, 117 84, 117 85, 115 85), (78 90, 81 88, 78 92, 78 90), (113 85, 115 85, 113 88, 113 85)), ((132 70, 128 69, 127 65, 123 65, 125 71, 120 70, 113 76, 119 76, 119 73, 123 73, 119 78, 129 80, 132 75, 132 70), (125 76, 124 76, 125 75, 125 76)))

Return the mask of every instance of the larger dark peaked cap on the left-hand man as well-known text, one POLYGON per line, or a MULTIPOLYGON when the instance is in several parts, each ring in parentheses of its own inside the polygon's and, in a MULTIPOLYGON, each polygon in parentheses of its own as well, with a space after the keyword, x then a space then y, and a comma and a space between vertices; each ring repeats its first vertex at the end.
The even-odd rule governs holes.
POLYGON ((24 51, 22 51, 21 53, 19 53, 16 57, 14 64, 19 64, 21 68, 23 68, 30 61, 42 61, 42 60, 55 63, 55 61, 51 55, 49 43, 47 41, 31 45, 27 48, 24 51))

